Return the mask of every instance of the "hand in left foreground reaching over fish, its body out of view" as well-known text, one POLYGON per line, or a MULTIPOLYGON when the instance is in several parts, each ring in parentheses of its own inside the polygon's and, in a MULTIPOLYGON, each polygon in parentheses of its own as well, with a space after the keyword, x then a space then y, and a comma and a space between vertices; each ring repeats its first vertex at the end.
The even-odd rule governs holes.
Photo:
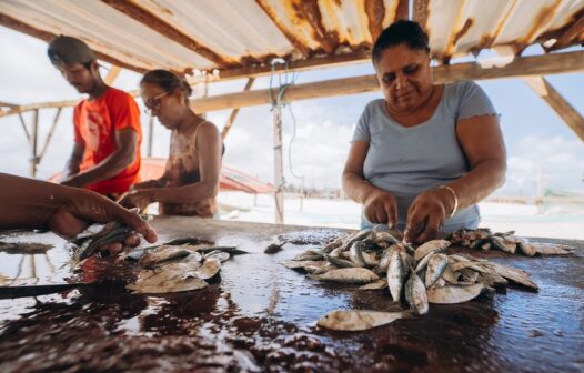
MULTIPOLYGON (((68 195, 69 198, 47 221, 47 226, 51 231, 66 239, 77 236, 92 223, 118 221, 142 234, 148 242, 153 243, 158 240, 154 230, 140 216, 103 195, 85 190, 72 190, 68 195)), ((123 245, 132 246, 139 243, 140 238, 132 235, 124 240, 123 245)), ((117 242, 102 249, 117 253, 123 245, 117 242)))

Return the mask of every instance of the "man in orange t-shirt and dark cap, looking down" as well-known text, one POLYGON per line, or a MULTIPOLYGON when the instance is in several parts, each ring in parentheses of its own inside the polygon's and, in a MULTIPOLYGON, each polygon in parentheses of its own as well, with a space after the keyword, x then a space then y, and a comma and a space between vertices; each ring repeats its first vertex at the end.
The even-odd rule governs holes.
POLYGON ((95 53, 83 41, 57 37, 48 54, 79 93, 89 94, 73 111, 75 143, 61 184, 117 199, 140 181, 138 104, 130 94, 103 82, 95 53))

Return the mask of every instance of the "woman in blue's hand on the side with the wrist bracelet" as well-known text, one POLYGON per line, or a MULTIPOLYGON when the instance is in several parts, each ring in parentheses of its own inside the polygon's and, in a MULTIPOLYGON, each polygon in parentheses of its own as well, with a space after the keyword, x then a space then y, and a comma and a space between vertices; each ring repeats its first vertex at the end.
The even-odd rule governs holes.
POLYGON ((446 214, 452 211, 452 194, 436 188, 419 194, 407 210, 404 241, 424 243, 433 240, 444 225, 446 214))

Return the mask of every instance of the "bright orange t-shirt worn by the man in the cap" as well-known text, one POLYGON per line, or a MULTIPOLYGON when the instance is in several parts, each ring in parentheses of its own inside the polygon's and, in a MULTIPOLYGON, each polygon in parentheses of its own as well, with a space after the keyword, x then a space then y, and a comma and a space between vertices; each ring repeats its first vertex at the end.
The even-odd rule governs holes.
POLYGON ((118 149, 115 131, 130 128, 138 133, 135 160, 115 177, 87 185, 101 194, 123 193, 140 181, 140 144, 142 128, 140 109, 134 99, 118 89, 108 88, 105 93, 93 101, 81 101, 73 111, 75 142, 85 145, 81 172, 93 168, 118 149))

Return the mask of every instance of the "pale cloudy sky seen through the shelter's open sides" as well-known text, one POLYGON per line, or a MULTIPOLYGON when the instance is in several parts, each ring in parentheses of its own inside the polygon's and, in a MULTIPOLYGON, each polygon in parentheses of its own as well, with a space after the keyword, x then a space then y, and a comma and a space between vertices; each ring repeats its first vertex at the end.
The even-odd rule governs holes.
MULTIPOLYGON (((0 27, 0 101, 26 104, 42 101, 80 99, 51 65, 46 42, 0 27)), ((583 50, 583 48, 574 48, 583 50)), ((528 51, 535 53, 536 50, 528 51)), ((481 56, 479 58, 482 58, 481 56)), ((103 63, 108 67, 107 63, 103 63)), ((295 83, 346 78, 373 73, 369 63, 349 68, 306 71, 295 83)), ((102 75, 107 70, 102 69, 102 75)), ((123 70, 114 87, 134 90, 141 75, 123 70)), ((576 109, 584 113, 584 73, 556 74, 548 81, 576 109)), ((285 77, 280 77, 285 81, 285 77)), ((289 75, 291 81, 292 77, 289 75)), ((273 78, 273 84, 279 81, 273 78)), ((210 84, 209 94, 241 91, 244 81, 210 84)), ((495 194, 532 196, 540 185, 584 193, 584 142, 521 79, 477 82, 501 114, 501 128, 507 149, 505 184, 495 194)), ((258 79, 253 89, 264 89, 269 78, 258 79)), ((339 189, 353 128, 362 110, 381 92, 295 101, 284 107, 283 142, 286 183, 306 188, 339 189), (294 140, 291 142, 295 129, 294 140), (289 159, 291 154, 291 159, 289 159), (291 168, 295 178, 291 173, 291 168)), ((142 102, 138 99, 140 105, 142 102)), ((230 110, 208 113, 208 120, 221 130, 230 110)), ((52 123, 53 109, 41 110, 39 147, 52 123)), ((30 124, 32 113, 26 113, 30 124)), ((46 157, 38 168, 38 178, 60 171, 72 150, 72 110, 61 114, 59 125, 46 157)), ((142 114, 145 154, 148 115, 142 114)), ((0 118, 0 172, 29 175, 30 147, 18 115, 0 118)), ((154 124, 154 157, 167 157, 170 132, 154 124)), ((270 105, 243 108, 225 140, 224 164, 273 182, 273 114, 270 105)))

